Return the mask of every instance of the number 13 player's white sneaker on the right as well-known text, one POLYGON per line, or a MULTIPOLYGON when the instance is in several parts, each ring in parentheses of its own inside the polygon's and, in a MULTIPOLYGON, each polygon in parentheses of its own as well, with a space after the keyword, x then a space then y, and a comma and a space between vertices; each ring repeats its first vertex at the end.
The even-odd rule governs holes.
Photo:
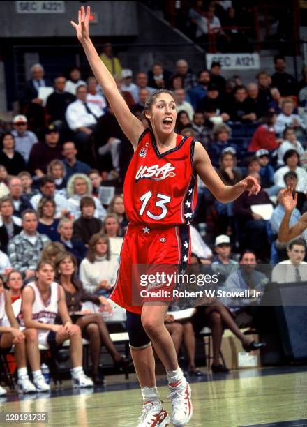
POLYGON ((190 386, 184 378, 176 386, 168 387, 171 391, 168 397, 172 400, 172 424, 185 426, 193 415, 190 386))

